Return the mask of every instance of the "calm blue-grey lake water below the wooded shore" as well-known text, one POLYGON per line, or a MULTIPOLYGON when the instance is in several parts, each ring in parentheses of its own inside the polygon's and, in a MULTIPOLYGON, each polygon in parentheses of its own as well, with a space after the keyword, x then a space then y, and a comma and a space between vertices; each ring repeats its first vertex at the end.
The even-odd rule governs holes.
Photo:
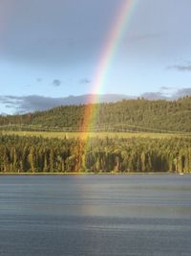
POLYGON ((191 175, 0 176, 0 255, 191 255, 191 175))

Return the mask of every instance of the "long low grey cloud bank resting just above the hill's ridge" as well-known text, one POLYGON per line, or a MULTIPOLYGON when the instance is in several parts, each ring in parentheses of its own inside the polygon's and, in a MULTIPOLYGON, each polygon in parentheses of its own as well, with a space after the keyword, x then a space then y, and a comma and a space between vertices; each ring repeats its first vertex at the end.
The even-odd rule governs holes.
MULTIPOLYGON (((159 92, 145 92, 139 96, 128 96, 128 95, 118 95, 118 94, 104 94, 97 97, 97 102, 99 103, 109 103, 117 102, 123 99, 136 99, 138 97, 143 97, 148 100, 176 100, 182 98, 186 95, 191 95, 190 88, 181 88, 172 94, 166 94, 162 91, 159 92)), ((43 111, 50 108, 60 106, 60 105, 82 105, 90 103, 90 95, 80 95, 80 96, 69 96, 66 98, 52 98, 43 97, 39 95, 29 95, 29 96, 0 96, 0 105, 4 105, 4 108, 9 109, 11 113, 26 113, 33 111, 43 111)))

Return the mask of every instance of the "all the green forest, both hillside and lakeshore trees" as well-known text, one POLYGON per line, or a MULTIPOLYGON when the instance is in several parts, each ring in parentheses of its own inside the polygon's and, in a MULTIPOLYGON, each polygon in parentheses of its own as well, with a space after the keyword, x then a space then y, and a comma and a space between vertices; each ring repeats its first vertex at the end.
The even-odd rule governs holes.
MULTIPOLYGON (((2 130, 6 129, 4 126, 13 129, 11 125, 17 125, 15 128, 26 125, 26 128, 40 126, 45 130, 69 128, 70 131, 82 126, 86 107, 66 105, 42 112, 0 116, 0 126, 2 130)), ((108 132, 104 137, 58 139, 0 131, 0 173, 191 173, 191 97, 177 101, 123 100, 94 108, 95 126, 106 131, 113 128, 110 130, 113 136, 108 132), (117 137, 114 136, 117 128, 178 133, 161 138, 117 137), (179 136, 181 132, 187 134, 179 136)))

